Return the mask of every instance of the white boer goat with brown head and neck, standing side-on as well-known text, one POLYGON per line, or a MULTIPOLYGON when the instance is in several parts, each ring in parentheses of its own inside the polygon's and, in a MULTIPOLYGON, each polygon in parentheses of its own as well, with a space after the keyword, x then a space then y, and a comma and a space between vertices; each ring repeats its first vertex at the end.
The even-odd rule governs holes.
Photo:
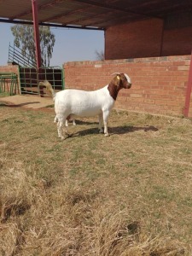
MULTIPOLYGON (((90 117, 98 114, 99 132, 102 130, 102 119, 104 123, 104 134, 108 136, 108 116, 113 108, 114 102, 122 88, 131 88, 131 79, 125 73, 115 73, 111 82, 99 90, 61 90, 54 92, 48 81, 41 82, 53 96, 55 102, 55 113, 57 123, 58 137, 64 139, 62 127, 66 120, 73 119, 74 116, 90 117)), ((67 127, 66 134, 69 136, 67 127)))

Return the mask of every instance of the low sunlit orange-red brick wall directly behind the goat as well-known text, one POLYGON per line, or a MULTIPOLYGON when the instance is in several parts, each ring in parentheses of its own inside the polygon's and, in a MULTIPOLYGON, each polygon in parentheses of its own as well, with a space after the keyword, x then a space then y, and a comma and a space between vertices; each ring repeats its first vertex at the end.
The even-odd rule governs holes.
POLYGON ((181 116, 189 62, 190 55, 67 62, 64 65, 65 82, 67 88, 96 90, 109 83, 112 73, 127 73, 131 77, 132 87, 119 92, 115 108, 181 116))

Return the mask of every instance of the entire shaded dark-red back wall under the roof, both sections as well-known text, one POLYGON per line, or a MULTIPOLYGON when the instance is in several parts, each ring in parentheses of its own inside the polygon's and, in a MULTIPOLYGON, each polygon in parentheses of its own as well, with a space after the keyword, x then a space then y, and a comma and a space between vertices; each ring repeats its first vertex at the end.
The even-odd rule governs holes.
POLYGON ((159 19, 111 26, 105 32, 106 60, 189 55, 191 49, 192 26, 164 29, 159 19))

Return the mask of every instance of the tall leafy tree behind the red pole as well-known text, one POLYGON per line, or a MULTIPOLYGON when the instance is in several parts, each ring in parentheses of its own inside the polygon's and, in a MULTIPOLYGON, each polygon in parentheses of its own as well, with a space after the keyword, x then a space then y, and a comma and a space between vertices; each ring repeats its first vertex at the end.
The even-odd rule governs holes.
MULTIPOLYGON (((33 26, 15 25, 11 26, 15 40, 14 43, 22 50, 23 55, 30 55, 32 61, 35 60, 35 40, 33 26)), ((42 66, 48 66, 52 57, 55 45, 55 35, 50 31, 49 26, 39 27, 40 49, 42 66)))

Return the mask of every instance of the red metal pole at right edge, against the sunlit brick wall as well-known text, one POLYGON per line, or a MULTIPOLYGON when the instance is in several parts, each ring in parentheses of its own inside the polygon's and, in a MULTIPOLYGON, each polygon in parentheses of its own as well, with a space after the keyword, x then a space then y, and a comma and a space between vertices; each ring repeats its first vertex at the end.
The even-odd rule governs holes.
POLYGON ((188 84, 187 84, 187 90, 186 90, 186 96, 185 96, 185 104, 183 109, 183 114, 185 117, 188 117, 189 115, 191 90, 192 90, 192 52, 190 56, 189 78, 188 78, 188 84))

